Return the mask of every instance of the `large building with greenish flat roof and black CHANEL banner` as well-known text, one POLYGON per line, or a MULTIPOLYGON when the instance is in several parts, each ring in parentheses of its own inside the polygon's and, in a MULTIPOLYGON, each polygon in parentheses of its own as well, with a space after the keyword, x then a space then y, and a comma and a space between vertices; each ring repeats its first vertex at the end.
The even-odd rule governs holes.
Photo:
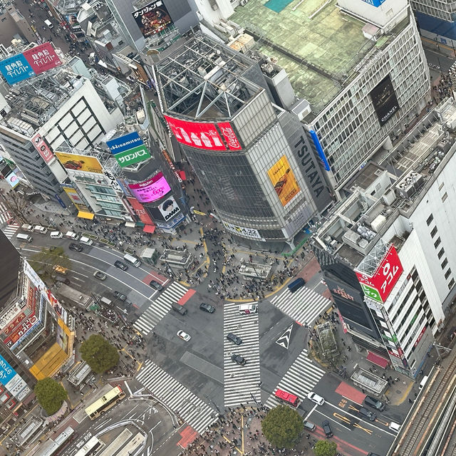
POLYGON ((302 122, 339 194, 375 152, 393 147, 430 100, 408 1, 338 0, 317 9, 307 1, 241 5, 222 29, 253 36, 309 102, 302 122))

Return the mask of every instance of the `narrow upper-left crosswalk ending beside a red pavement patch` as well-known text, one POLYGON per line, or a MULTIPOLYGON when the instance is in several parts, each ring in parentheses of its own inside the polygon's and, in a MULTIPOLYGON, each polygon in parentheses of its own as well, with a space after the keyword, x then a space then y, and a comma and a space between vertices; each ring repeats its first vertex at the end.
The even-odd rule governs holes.
POLYGON ((188 289, 179 282, 173 281, 170 286, 158 294, 156 299, 151 299, 150 306, 145 309, 133 327, 138 329, 143 336, 147 336, 155 325, 170 311, 171 304, 179 301, 188 289))

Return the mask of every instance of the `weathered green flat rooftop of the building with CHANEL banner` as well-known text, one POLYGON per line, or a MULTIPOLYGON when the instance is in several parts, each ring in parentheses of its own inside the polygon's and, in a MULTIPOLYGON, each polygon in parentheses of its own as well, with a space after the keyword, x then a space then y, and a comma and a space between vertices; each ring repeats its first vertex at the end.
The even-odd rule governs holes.
POLYGON ((376 43, 366 38, 366 22, 341 12, 335 0, 292 1, 281 11, 266 6, 278 3, 249 0, 229 19, 244 27, 259 50, 287 71, 296 95, 309 101, 314 114, 341 90, 363 57, 390 41, 390 35, 376 43))

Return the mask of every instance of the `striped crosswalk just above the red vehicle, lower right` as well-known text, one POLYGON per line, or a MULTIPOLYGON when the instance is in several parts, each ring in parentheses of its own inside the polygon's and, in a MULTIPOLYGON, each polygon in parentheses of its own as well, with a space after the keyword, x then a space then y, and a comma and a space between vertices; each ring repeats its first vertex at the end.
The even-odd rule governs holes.
POLYGON ((307 393, 311 391, 318 381, 323 377, 325 371, 316 366, 307 356, 307 350, 304 348, 298 358, 286 371, 284 377, 280 380, 273 394, 266 400, 266 407, 273 408, 279 405, 279 400, 274 396, 276 390, 284 390, 287 393, 294 394, 303 400, 307 393))

